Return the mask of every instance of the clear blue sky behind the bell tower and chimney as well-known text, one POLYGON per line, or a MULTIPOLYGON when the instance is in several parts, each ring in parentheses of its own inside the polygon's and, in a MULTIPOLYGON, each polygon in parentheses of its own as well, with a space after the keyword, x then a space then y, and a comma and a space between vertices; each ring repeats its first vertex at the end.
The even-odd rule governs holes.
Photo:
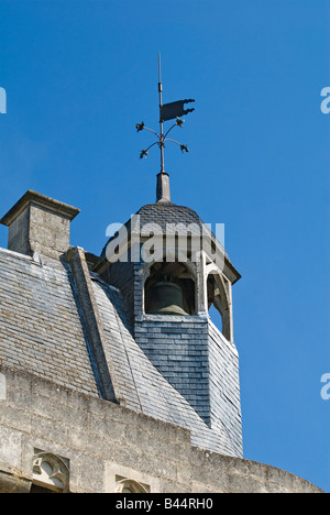
MULTIPOLYGON (((155 200, 164 102, 195 98, 166 147, 172 199, 226 223, 244 456, 330 492, 328 0, 0 0, 0 212, 34 189, 81 209, 72 243, 155 200)), ((7 229, 0 229, 7 246, 7 229)))

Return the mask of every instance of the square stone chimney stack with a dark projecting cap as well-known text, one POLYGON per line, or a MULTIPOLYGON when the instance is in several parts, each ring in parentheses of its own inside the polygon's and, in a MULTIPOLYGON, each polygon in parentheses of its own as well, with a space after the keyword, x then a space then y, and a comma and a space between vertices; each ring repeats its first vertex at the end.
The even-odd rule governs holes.
POLYGON ((9 228, 8 249, 58 259, 69 248, 70 222, 79 212, 67 204, 26 191, 0 220, 9 228))

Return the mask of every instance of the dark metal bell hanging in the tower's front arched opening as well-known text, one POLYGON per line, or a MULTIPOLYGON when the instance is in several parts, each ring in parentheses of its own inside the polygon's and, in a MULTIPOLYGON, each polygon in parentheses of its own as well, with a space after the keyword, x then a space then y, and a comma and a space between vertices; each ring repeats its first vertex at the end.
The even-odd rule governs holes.
POLYGON ((162 281, 148 288, 146 310, 151 315, 188 315, 178 284, 162 281))

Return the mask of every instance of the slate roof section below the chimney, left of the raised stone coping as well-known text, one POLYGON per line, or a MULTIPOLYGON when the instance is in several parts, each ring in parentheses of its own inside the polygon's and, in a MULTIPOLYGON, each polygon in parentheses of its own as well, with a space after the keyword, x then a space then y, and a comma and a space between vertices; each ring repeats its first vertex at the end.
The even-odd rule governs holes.
POLYGON ((68 265, 0 250, 0 363, 98 395, 68 265))

